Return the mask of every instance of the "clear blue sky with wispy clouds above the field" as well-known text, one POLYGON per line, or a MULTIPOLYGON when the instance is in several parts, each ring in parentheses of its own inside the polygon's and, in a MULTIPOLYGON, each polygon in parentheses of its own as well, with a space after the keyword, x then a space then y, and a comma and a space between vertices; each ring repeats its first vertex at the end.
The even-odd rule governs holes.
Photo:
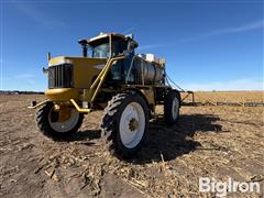
POLYGON ((79 38, 133 33, 138 53, 166 58, 190 90, 263 90, 263 1, 0 0, 0 89, 44 90, 52 56, 79 56, 79 38))

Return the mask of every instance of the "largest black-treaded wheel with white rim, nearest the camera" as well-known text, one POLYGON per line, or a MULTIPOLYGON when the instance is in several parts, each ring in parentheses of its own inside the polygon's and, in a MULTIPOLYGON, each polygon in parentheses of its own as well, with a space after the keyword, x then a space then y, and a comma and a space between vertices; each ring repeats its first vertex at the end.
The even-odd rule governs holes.
POLYGON ((136 92, 118 94, 105 109, 101 135, 110 153, 133 157, 143 145, 148 131, 148 108, 136 92))

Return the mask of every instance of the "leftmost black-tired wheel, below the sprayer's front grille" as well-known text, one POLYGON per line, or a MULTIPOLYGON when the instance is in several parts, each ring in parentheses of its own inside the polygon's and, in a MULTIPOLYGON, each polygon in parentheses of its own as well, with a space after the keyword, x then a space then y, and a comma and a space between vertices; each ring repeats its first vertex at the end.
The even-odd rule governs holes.
POLYGON ((75 108, 70 109, 70 116, 64 121, 58 120, 59 113, 54 110, 53 102, 46 102, 36 112, 36 123, 40 131, 52 139, 66 138, 77 132, 80 128, 84 114, 75 108))

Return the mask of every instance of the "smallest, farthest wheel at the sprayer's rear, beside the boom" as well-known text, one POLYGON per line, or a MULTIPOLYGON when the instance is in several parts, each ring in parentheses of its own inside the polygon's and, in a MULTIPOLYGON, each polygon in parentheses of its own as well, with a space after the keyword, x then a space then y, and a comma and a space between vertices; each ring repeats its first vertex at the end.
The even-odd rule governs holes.
POLYGON ((164 119, 168 124, 175 124, 179 118, 180 96, 176 90, 169 90, 164 101, 164 119))

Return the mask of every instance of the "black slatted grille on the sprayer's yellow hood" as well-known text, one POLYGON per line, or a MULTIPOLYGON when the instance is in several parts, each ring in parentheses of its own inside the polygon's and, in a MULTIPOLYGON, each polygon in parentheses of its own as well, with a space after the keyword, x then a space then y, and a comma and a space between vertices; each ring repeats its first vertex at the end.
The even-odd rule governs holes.
POLYGON ((74 87, 73 65, 62 64, 48 67, 48 88, 74 87))

